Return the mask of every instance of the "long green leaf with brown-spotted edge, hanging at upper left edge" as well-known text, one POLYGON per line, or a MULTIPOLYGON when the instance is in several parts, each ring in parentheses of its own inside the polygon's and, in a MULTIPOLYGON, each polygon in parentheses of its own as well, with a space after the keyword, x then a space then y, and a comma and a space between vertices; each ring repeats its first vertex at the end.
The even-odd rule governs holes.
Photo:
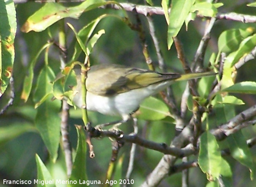
POLYGON ((16 11, 12 0, 0 1, 0 97, 10 82, 14 62, 16 11))

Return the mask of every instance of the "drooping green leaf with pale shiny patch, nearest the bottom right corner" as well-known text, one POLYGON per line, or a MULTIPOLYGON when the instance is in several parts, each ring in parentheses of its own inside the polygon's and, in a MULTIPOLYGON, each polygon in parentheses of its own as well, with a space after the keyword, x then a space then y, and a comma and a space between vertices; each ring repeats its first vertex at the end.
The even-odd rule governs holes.
POLYGON ((228 136, 227 140, 232 157, 249 168, 250 177, 253 180, 255 166, 253 163, 252 153, 246 144, 244 135, 241 131, 238 131, 235 134, 228 136))

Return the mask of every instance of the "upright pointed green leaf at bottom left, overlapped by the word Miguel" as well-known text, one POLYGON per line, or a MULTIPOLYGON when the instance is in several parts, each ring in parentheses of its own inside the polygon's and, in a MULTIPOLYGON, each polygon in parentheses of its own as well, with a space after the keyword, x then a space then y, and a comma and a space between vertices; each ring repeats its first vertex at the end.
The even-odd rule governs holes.
POLYGON ((53 177, 51 176, 50 172, 47 170, 45 167, 44 163, 40 159, 39 155, 35 155, 35 161, 36 161, 36 167, 37 167, 37 180, 35 180, 35 183, 38 184, 38 186, 42 187, 56 187, 53 182, 53 177), (43 184, 40 183, 40 181, 47 181, 48 184, 43 184))

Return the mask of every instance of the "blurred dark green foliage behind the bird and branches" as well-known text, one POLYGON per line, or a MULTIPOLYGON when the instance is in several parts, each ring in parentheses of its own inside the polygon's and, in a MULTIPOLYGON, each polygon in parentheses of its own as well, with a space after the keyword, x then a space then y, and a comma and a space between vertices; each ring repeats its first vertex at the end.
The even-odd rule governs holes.
MULTIPOLYGON (((143 1, 129 1, 135 4, 144 4, 143 1)), ((155 6, 160 6, 159 1, 153 1, 155 6)), ((224 6, 219 8, 219 12, 237 12, 241 14, 252 14, 255 15, 255 7, 246 7, 246 4, 250 1, 241 0, 224 0, 224 6)), ((74 5, 74 3, 70 3, 74 5)), ((59 157, 56 163, 52 163, 49 159, 47 149, 44 143, 34 128, 34 119, 36 115, 36 110, 34 109, 34 103, 32 98, 29 98, 27 103, 21 100, 21 91, 25 75, 28 73, 28 63, 36 55, 41 46, 43 46, 49 39, 47 30, 36 33, 22 33, 20 32, 21 26, 25 23, 27 18, 32 15, 36 10, 42 7, 42 4, 35 2, 27 2, 16 5, 17 11, 17 35, 15 38, 15 61, 13 66, 13 77, 14 77, 14 89, 15 89, 15 99, 13 104, 8 108, 8 110, 0 116, 1 127, 13 127, 8 131, 1 132, 4 133, 6 138, 0 141, 0 180, 10 179, 10 180, 32 180, 36 178, 36 161, 35 153, 39 154, 40 158, 46 164, 47 168, 51 172, 53 177, 65 176, 65 162, 63 157, 63 152, 59 151, 59 157), (20 132, 19 126, 28 126, 28 129, 24 132, 20 132), (9 135, 9 136, 8 136, 9 135)), ((78 20, 71 18, 66 18, 65 22, 70 22, 76 30, 79 30, 84 25, 89 23, 91 20, 103 13, 114 13, 122 14, 121 11, 112 9, 94 9, 82 14, 78 20)), ((128 13, 133 21, 135 21, 134 14, 128 13)), ((140 15, 143 23, 143 27, 146 31, 146 41, 148 44, 148 49, 150 57, 154 64, 157 64, 157 56, 154 50, 154 45, 148 33, 148 25, 146 19, 143 15, 140 15)), ((166 62, 169 69, 174 72, 182 73, 183 69, 181 63, 177 59, 177 52, 172 46, 171 50, 167 49, 167 24, 163 15, 153 15, 153 22, 156 29, 156 35, 159 39, 159 46, 162 50, 162 55, 164 61, 166 62)), ((226 29, 231 28, 247 28, 255 27, 255 23, 244 24, 240 22, 228 21, 228 20, 218 20, 211 33, 211 40, 209 46, 207 47, 205 59, 209 59, 212 52, 217 52, 217 38, 226 29)), ((141 42, 138 33, 131 30, 127 25, 116 20, 114 18, 105 18, 97 26, 97 30, 105 29, 105 33, 96 43, 93 53, 90 56, 90 61, 92 64, 125 64, 134 67, 147 68, 145 59, 142 54, 141 42)), ((58 23, 55 23, 50 27, 50 30, 57 40, 57 29, 58 23)), ((184 26, 179 32, 179 39, 183 44, 183 49, 185 51, 186 58, 191 62, 198 44, 201 40, 204 29, 204 22, 201 18, 196 18, 195 21, 189 24, 189 31, 186 32, 184 26)), ((68 56, 70 59, 72 55, 72 50, 74 48, 74 33, 70 28, 66 26, 67 30, 67 46, 68 46, 68 56)), ((60 71, 58 50, 56 48, 51 48, 49 55, 49 65, 53 68, 55 74, 60 71)), ((43 55, 38 59, 36 66, 34 68, 34 79, 37 79, 43 64, 43 55)), ((83 61, 81 58, 80 61, 83 61)), ((205 60, 205 64, 208 61, 205 60)), ((158 69, 159 70, 159 69, 158 69)), ((255 60, 246 63, 242 68, 239 69, 237 74, 237 82, 244 80, 256 81, 255 76, 255 60)), ((32 92, 35 88, 36 81, 33 82, 32 92)), ((181 91, 184 89, 185 83, 176 83, 173 85, 174 96, 180 100, 181 91)), ((4 106, 6 104, 6 98, 8 98, 7 90, 6 94, 1 97, 0 104, 4 106)), ((246 103, 245 105, 239 105, 236 107, 236 112, 241 112, 242 110, 254 105, 256 103, 255 95, 243 95, 236 94, 239 98, 243 99, 246 103)), ((100 124, 108 121, 113 121, 118 118, 103 116, 98 113, 89 112, 90 120, 93 124, 100 124)), ((70 136, 72 147, 76 148, 77 134, 74 124, 83 124, 79 111, 74 111, 71 109, 70 119, 68 121, 70 125, 70 136)), ((156 142, 170 142, 174 137, 174 125, 164 122, 148 122, 144 125, 145 121, 139 121, 139 134, 147 139, 156 142)), ((131 132, 132 126, 130 124, 125 124, 121 127, 125 132, 131 132)), ((3 128, 2 128, 3 129, 3 128)), ((1 129, 1 130, 2 130, 1 129)), ((243 129, 243 134, 250 138, 255 136, 256 129, 254 126, 243 129)), ((109 139, 104 138, 101 140, 93 139, 93 144, 95 146, 96 157, 94 159, 89 159, 87 155, 87 175, 90 180, 104 180, 106 170, 111 157, 111 142, 109 139)), ((129 159, 129 149, 130 144, 125 144, 124 148, 121 149, 119 155, 124 155, 124 162, 122 165, 123 175, 125 169, 128 165, 129 159)), ((253 159, 256 159, 256 150, 250 149, 253 154, 253 159)), ((87 153, 88 154, 88 153, 87 153)), ((162 153, 148 150, 145 148, 137 147, 137 152, 135 155, 135 169, 132 172, 131 178, 135 180, 134 186, 139 186, 147 176, 148 173, 157 165, 162 153)), ((195 157, 194 157, 195 158, 195 157)), ((225 157, 228 162, 231 163, 233 171, 233 186, 254 186, 255 180, 251 181, 248 169, 239 164, 231 157, 225 157)), ((192 159, 193 160, 193 159, 192 159)), ((181 161, 178 161, 178 163, 181 161)), ((64 179, 64 177, 63 177, 64 179)), ((190 169, 189 175, 190 186, 205 186, 207 184, 207 179, 205 174, 203 174, 199 167, 190 169)), ((159 186, 180 186, 181 185, 181 173, 174 174, 166 179, 159 186)), ((0 183, 2 185, 2 182, 0 183)), ((25 186, 25 185, 24 185, 25 186)), ((29 185, 28 185, 29 186, 29 185)), ((61 185, 58 185, 61 186, 61 185)), ((93 185, 92 185, 93 186, 93 185)))

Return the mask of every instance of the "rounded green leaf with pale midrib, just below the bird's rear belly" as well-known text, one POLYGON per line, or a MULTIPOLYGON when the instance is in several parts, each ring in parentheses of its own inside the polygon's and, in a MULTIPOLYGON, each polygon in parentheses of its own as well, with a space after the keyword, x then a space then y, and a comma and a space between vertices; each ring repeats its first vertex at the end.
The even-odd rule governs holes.
POLYGON ((136 112, 138 118, 142 120, 162 120, 170 116, 167 105, 154 97, 148 97, 141 104, 139 110, 136 112))

